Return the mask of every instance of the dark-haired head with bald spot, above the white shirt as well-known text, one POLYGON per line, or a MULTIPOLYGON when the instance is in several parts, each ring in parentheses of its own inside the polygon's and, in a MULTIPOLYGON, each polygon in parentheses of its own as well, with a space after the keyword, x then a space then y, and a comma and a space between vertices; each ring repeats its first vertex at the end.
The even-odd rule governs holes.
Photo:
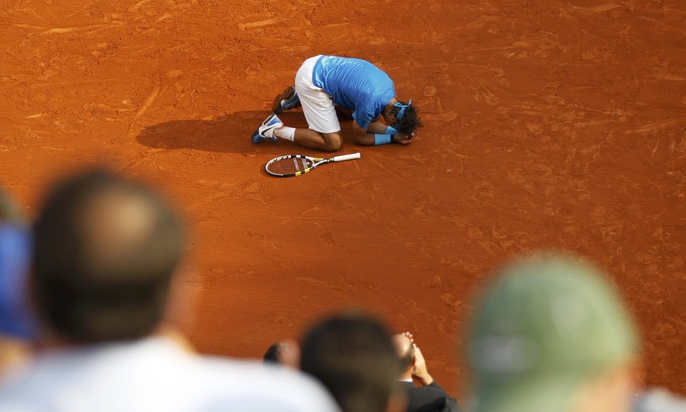
POLYGON ((83 172, 47 197, 34 236, 43 324, 74 343, 158 327, 183 249, 181 223, 158 195, 106 170, 83 172))

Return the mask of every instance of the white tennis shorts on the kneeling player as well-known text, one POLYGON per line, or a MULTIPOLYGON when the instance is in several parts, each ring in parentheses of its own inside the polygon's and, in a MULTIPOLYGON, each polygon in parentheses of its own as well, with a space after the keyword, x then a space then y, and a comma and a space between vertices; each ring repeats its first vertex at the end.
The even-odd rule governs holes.
POLYGON ((312 83, 312 72, 320 57, 315 56, 305 60, 295 75, 295 90, 300 97, 303 113, 310 129, 319 133, 334 133, 341 130, 341 125, 338 122, 333 99, 324 92, 324 89, 312 83))

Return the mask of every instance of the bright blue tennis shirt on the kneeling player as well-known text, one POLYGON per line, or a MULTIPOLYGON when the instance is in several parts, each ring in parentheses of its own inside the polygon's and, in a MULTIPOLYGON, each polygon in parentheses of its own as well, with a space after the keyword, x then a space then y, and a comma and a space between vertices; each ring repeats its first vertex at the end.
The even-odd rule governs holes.
POLYGON ((353 110, 353 118, 362 129, 367 129, 395 97, 391 78, 359 58, 321 56, 312 71, 312 83, 338 106, 353 110))

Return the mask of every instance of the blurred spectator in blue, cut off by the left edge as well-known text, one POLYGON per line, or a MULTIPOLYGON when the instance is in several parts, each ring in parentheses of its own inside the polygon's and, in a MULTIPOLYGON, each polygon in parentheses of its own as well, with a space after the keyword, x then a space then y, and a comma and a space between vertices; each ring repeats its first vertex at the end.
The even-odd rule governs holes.
POLYGON ((0 190, 0 371, 26 360, 37 325, 28 304, 31 240, 28 224, 0 190))

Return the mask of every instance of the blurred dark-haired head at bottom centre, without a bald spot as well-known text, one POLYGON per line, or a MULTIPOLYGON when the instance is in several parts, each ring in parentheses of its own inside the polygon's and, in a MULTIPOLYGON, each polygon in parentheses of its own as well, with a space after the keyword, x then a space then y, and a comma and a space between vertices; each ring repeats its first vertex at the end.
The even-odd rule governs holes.
POLYGON ((390 333, 365 315, 337 315, 308 332, 301 369, 321 381, 343 412, 385 412, 401 372, 390 333))

